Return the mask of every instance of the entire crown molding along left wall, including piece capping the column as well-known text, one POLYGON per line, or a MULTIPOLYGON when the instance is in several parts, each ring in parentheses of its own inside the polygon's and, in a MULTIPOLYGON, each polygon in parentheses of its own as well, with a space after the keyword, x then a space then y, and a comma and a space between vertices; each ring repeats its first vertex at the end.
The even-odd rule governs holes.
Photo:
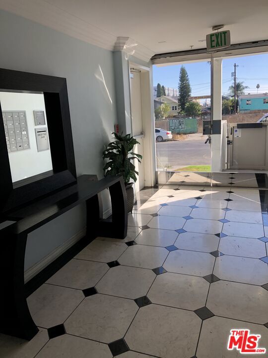
POLYGON ((130 37, 116 37, 46 0, 0 0, 0 8, 81 41, 110 51, 124 51, 146 62, 155 54, 130 37))

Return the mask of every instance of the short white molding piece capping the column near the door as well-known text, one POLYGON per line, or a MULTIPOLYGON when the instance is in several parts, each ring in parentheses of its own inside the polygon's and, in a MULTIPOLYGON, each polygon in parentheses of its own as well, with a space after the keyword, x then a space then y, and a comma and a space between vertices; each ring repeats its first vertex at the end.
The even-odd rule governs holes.
POLYGON ((119 36, 116 40, 114 51, 124 51, 128 55, 132 55, 140 60, 148 62, 154 55, 154 52, 145 46, 137 43, 130 37, 119 36))

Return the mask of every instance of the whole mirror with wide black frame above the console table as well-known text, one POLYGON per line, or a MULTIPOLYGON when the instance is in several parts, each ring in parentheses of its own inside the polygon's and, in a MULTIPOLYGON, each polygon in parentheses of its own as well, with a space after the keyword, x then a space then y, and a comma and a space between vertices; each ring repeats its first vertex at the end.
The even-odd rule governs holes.
POLYGON ((65 78, 0 69, 0 212, 76 182, 65 78))

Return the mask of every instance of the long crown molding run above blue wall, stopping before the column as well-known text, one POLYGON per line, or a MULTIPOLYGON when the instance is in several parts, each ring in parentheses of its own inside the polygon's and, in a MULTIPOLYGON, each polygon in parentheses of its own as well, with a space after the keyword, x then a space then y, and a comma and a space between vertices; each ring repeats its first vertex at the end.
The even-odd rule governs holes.
POLYGON ((116 36, 44 0, 0 0, 0 8, 92 45, 114 49, 116 36))

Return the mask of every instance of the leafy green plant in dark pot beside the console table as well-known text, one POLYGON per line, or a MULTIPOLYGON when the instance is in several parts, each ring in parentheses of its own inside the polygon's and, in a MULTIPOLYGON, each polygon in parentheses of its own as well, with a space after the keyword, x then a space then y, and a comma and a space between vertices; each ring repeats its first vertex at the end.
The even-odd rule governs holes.
POLYGON ((123 176, 127 191, 128 199, 128 212, 132 212, 134 206, 134 189, 133 182, 137 180, 138 172, 135 170, 135 166, 132 160, 136 159, 139 163, 142 159, 140 154, 133 152, 133 147, 139 142, 134 139, 130 134, 123 136, 114 134, 114 142, 108 144, 105 151, 103 151, 103 159, 108 159, 103 170, 105 177, 108 175, 123 176))

